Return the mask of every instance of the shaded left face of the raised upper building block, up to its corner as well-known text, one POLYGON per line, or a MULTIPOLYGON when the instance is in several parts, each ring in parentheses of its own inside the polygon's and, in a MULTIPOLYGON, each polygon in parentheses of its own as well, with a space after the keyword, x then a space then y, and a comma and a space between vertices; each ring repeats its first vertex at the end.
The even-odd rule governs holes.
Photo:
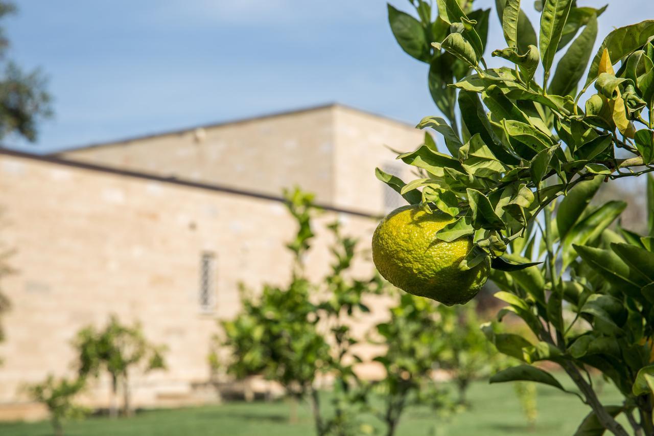
POLYGON ((300 185, 332 202, 334 107, 228 122, 60 153, 83 162, 279 195, 300 185))

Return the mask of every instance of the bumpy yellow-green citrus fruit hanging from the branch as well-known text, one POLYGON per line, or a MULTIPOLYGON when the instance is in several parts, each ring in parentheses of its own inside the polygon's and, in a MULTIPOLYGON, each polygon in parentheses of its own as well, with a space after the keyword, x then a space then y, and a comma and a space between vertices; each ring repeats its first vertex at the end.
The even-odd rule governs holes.
POLYGON ((486 283, 490 265, 482 262, 469 270, 459 267, 472 249, 469 236, 452 242, 434 238, 453 221, 446 213, 426 213, 418 206, 389 213, 372 238, 373 262, 379 273, 410 294, 448 306, 470 301, 486 283))

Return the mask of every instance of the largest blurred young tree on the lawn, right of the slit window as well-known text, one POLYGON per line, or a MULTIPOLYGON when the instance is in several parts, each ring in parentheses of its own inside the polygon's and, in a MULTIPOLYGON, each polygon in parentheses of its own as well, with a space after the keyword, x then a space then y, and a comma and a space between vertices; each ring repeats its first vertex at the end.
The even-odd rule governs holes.
POLYGON ((317 212, 313 195, 296 189, 285 192, 288 210, 298 223, 296 238, 287 247, 294 255, 292 277, 286 287, 265 285, 258 298, 243 292, 243 309, 221 323, 225 338, 220 341, 232 351, 228 372, 236 378, 264 374, 279 382, 293 399, 308 399, 318 435, 358 434, 358 406, 365 403, 365 391, 353 365, 358 340, 350 324, 357 314, 368 312, 364 295, 377 293, 378 276, 367 280, 351 277, 356 240, 343 236, 339 225, 328 228, 334 235, 333 263, 320 283, 304 274, 303 257, 311 245, 311 219, 317 212), (321 407, 316 381, 320 374, 334 377, 332 414, 321 407))

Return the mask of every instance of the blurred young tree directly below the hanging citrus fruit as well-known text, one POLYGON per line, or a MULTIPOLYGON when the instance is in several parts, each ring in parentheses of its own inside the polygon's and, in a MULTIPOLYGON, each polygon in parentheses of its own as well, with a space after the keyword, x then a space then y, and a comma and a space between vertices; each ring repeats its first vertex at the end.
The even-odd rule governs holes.
POLYGON ((386 370, 386 377, 376 384, 384 401, 378 416, 388 436, 395 434, 402 414, 411 404, 430 405, 435 410, 454 405, 449 392, 434 380, 434 371, 448 349, 442 321, 434 302, 403 294, 390 310, 390 319, 377 325, 381 343, 387 347, 383 355, 375 357, 386 370))

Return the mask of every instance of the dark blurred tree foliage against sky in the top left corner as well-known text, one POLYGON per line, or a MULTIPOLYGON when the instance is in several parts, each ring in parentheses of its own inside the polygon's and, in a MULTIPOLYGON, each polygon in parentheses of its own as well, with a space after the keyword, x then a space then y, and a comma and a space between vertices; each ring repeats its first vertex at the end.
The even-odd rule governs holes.
MULTIPOLYGON (((16 12, 9 1, 0 1, 0 19, 16 12)), ((46 79, 39 69, 24 71, 7 59, 9 39, 0 27, 0 139, 16 134, 37 139, 37 124, 52 116, 46 79)))

